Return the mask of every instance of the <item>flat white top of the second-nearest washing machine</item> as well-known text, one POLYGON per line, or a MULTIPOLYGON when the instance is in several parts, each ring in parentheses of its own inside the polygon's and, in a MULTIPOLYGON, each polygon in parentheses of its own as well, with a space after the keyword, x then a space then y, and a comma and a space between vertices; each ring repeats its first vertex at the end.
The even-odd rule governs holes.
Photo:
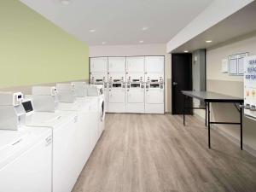
POLYGON ((34 112, 26 117, 26 126, 55 128, 73 119, 77 113, 72 111, 34 112))

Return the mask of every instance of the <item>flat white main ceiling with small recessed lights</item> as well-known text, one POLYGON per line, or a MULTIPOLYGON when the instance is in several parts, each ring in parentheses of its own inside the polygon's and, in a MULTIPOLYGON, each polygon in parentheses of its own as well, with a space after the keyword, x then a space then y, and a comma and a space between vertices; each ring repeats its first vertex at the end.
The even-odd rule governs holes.
POLYGON ((90 45, 167 43, 212 0, 20 0, 90 45), (141 30, 144 26, 148 30, 141 30), (89 32, 96 29, 96 32, 89 32))

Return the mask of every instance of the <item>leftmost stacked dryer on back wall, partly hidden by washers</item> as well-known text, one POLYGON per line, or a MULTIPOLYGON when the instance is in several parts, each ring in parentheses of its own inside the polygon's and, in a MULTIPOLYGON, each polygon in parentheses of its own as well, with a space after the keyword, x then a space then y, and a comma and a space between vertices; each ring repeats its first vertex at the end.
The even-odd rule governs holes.
POLYGON ((105 111, 108 112, 108 57, 90 58, 90 84, 102 84, 105 111))

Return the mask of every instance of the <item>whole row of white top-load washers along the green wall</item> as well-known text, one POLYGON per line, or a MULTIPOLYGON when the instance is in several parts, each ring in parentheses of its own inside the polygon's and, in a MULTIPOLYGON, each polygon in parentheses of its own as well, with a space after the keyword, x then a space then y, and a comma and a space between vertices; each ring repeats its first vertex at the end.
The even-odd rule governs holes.
POLYGON ((104 130, 104 96, 82 82, 56 87, 0 92, 0 191, 72 191, 104 130))

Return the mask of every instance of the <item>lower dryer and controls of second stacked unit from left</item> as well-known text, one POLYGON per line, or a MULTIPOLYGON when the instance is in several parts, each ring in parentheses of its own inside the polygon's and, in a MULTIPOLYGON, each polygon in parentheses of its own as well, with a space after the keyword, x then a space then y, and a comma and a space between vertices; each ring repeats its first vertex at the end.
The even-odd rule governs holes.
POLYGON ((109 73, 108 80, 108 112, 125 113, 125 73, 109 73))

